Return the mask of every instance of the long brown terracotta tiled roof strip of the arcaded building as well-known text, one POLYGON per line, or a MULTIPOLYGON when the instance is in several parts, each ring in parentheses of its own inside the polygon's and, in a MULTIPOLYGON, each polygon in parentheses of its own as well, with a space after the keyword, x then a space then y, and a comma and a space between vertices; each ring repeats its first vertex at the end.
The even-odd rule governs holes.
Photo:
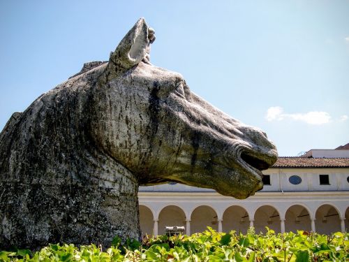
POLYGON ((271 168, 349 168, 349 158, 279 157, 271 168))

